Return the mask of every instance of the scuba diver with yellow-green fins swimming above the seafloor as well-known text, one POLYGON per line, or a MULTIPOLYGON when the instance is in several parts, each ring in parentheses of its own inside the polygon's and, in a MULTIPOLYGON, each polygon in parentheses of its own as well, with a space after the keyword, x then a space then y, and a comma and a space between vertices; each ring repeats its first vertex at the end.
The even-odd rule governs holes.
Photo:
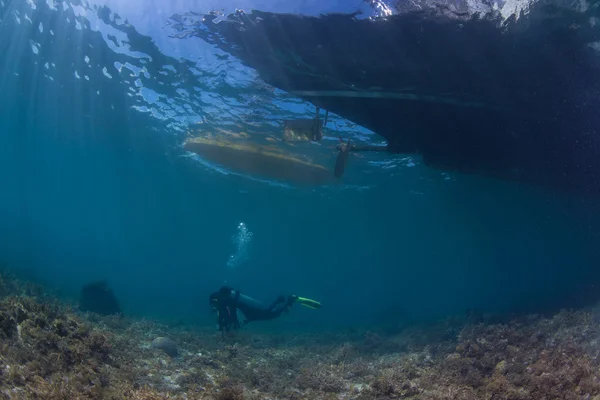
POLYGON ((246 319, 243 324, 246 325, 251 321, 275 319, 282 312, 289 312, 289 308, 295 303, 312 309, 321 308, 321 303, 318 301, 295 295, 279 296, 271 304, 266 305, 228 286, 223 286, 219 291, 211 293, 208 301, 213 311, 217 313, 217 324, 222 334, 241 327, 238 310, 244 314, 246 319))

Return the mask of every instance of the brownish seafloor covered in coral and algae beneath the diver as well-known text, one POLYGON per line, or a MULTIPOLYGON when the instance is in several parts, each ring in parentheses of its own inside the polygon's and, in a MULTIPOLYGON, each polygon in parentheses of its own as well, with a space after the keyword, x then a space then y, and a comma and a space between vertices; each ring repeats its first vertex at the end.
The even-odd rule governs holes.
POLYGON ((2 399, 595 399, 593 310, 396 334, 238 334, 83 314, 0 275, 2 399), (153 348, 156 337, 179 355, 153 348))

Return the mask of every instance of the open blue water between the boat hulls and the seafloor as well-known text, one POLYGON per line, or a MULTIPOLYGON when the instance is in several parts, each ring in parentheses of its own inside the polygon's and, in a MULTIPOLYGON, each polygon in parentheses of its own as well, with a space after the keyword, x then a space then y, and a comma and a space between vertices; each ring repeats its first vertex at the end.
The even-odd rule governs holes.
MULTIPOLYGON (((326 329, 544 310, 599 281, 597 199, 415 156, 356 157, 327 187, 209 168, 181 149, 189 127, 260 140, 312 108, 201 44, 166 55, 106 8, 34 3, 0 7, 0 260, 67 298, 106 279, 129 315, 203 325, 227 282, 316 298, 269 326, 326 329)), ((335 140, 307 151, 333 166, 335 140)))

